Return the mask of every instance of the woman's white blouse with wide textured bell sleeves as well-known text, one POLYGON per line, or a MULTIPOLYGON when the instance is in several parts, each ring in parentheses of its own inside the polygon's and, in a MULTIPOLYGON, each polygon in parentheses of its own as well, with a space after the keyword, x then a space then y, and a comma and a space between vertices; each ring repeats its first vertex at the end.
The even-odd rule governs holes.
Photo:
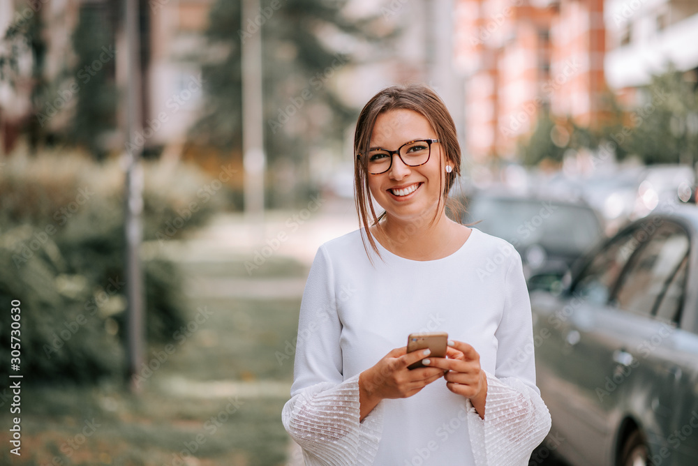
POLYGON ((438 260, 408 260, 377 244, 381 257, 369 247, 371 264, 361 230, 329 241, 309 273, 282 413, 306 465, 526 465, 550 415, 535 386, 517 251, 477 229, 438 260), (359 374, 420 331, 446 331, 480 354, 484 420, 442 378, 410 398, 382 400, 359 422, 359 374))

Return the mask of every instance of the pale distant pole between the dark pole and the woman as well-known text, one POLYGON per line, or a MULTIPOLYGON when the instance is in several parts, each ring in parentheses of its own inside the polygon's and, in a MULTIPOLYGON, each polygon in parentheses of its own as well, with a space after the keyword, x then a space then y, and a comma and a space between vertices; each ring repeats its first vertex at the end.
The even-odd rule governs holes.
MULTIPOLYGON (((248 31, 260 14, 259 0, 242 2, 241 27, 248 31), (248 22, 252 20, 252 23, 248 22)), ((249 31, 248 31, 249 32, 249 31)), ((245 216, 263 234, 265 153, 262 116, 262 27, 242 43, 242 150, 245 216)), ((261 238, 258 238, 261 240, 261 238)))

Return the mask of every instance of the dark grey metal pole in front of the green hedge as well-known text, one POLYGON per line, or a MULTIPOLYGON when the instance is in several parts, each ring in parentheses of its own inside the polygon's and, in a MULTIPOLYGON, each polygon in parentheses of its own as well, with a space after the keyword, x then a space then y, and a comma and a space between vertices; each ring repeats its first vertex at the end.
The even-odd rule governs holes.
MULTIPOLYGON (((143 172, 140 165, 142 144, 137 140, 137 132, 142 130, 140 114, 140 27, 139 0, 125 0, 126 19, 126 296, 128 301, 128 380, 131 391, 138 391, 134 375, 138 373, 143 360, 143 277, 140 264, 140 244, 142 242, 143 211, 143 172)), ((142 143, 142 141, 140 141, 142 143)))

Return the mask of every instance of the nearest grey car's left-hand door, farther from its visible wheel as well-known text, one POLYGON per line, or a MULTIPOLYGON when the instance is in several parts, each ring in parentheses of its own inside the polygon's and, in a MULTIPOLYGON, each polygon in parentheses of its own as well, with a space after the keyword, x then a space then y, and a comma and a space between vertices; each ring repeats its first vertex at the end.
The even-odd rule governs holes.
POLYGON ((534 337, 540 337, 537 383, 552 415, 551 432, 565 438, 559 449, 575 463, 603 464, 610 448, 605 416, 595 402, 597 361, 604 358, 588 344, 586 333, 640 244, 635 230, 618 234, 588 260, 562 296, 531 296, 534 337))

